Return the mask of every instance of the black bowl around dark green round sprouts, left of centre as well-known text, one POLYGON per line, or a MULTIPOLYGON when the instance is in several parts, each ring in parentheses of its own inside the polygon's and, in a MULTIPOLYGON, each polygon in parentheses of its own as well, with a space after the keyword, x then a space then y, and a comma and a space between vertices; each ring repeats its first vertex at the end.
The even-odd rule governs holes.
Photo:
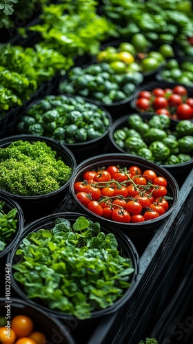
MULTIPOLYGON (((48 96, 51 96, 51 95, 49 94, 48 96)), ((70 96, 69 94, 65 94, 65 96, 68 98, 72 98, 72 99, 76 97, 76 96, 70 96)), ((44 98, 45 98, 45 96, 38 98, 37 100, 34 100, 32 103, 30 103, 28 105, 26 111, 23 111, 23 113, 21 114, 19 120, 22 120, 22 117, 26 116, 30 107, 38 104, 44 98)), ((79 96, 79 98, 83 98, 83 97, 79 96)), ((88 100, 85 98, 83 98, 83 100, 85 100, 86 103, 94 104, 94 102, 92 102, 92 100, 88 100)), ((75 157, 77 163, 81 162, 83 160, 83 158, 85 159, 85 158, 92 157, 93 152, 95 154, 100 153, 101 150, 103 150, 103 148, 105 147, 105 145, 108 142, 108 133, 109 133, 110 127, 112 125, 112 116, 104 107, 101 107, 101 106, 98 106, 98 107, 99 107, 99 109, 105 111, 106 118, 108 118, 108 120, 110 122, 109 126, 106 128, 104 133, 102 133, 99 138, 94 138, 93 140, 90 140, 90 141, 76 142, 73 144, 64 143, 65 147, 70 149, 70 151, 72 151, 72 153, 74 154, 74 157, 75 157)), ((18 133, 16 133, 16 134, 18 134, 18 133)))

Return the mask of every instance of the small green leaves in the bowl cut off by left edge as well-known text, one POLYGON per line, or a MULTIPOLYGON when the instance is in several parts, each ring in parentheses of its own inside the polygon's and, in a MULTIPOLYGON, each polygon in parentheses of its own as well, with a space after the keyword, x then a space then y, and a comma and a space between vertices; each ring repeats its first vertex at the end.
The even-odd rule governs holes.
POLYGON ((7 213, 5 204, 6 202, 0 200, 0 252, 10 244, 17 230, 17 208, 12 208, 7 213))

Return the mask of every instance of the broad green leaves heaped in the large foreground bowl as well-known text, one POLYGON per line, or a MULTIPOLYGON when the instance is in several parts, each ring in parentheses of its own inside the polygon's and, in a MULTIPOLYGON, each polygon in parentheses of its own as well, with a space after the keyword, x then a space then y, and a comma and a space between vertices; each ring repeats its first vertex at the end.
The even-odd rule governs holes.
POLYGON ((134 272, 116 237, 83 216, 73 224, 58 217, 51 230, 29 233, 16 255, 14 279, 26 295, 78 319, 112 305, 130 288, 134 272))

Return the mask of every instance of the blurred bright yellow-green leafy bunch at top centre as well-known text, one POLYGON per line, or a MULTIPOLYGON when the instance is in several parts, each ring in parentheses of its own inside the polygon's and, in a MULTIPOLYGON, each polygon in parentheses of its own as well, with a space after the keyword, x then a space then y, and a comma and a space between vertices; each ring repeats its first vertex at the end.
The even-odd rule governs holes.
POLYGON ((30 30, 39 32, 41 47, 51 47, 63 56, 74 58, 84 53, 96 54, 100 41, 111 34, 114 25, 96 11, 94 0, 60 1, 43 6, 43 23, 30 30))

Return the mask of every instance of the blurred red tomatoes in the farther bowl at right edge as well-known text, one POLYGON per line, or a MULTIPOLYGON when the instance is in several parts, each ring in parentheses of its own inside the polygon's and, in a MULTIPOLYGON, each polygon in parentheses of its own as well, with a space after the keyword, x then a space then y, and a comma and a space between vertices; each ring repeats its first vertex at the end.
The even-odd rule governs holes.
POLYGON ((141 91, 136 99, 136 107, 140 111, 165 114, 176 120, 193 118, 193 98, 188 96, 187 89, 182 85, 141 91))

